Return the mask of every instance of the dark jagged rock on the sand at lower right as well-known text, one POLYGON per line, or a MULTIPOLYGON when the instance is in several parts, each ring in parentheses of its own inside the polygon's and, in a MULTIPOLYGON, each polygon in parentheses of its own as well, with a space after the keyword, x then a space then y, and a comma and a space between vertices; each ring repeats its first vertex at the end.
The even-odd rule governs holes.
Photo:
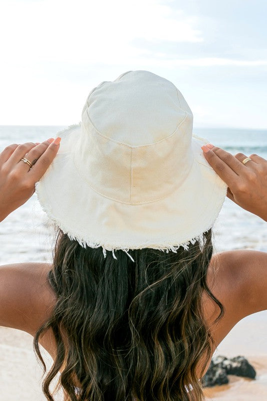
POLYGON ((256 372, 253 366, 243 356, 226 358, 225 356, 214 356, 210 361, 209 368, 203 377, 204 387, 228 383, 227 374, 255 378, 256 372))

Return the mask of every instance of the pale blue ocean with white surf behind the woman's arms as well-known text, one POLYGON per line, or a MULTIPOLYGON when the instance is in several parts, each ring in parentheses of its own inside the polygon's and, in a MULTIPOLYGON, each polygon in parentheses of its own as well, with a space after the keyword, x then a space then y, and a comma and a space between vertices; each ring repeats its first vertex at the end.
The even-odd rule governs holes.
MULTIPOLYGON (((41 142, 64 126, 0 126, 0 151, 11 143, 41 142)), ((257 153, 267 159, 267 130, 194 129, 193 132, 231 154, 257 153)), ((267 223, 227 197, 213 226, 215 252, 254 249, 267 252, 267 223)), ((0 223, 0 264, 52 262, 54 226, 37 195, 0 223)))

